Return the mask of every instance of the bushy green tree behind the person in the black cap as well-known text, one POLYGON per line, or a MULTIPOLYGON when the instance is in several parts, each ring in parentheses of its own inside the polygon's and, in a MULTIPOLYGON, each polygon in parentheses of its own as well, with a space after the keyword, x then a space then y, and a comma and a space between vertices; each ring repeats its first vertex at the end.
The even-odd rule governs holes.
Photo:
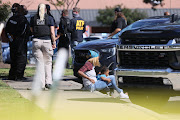
MULTIPOLYGON (((121 7, 122 5, 120 5, 121 7)), ((117 6, 115 6, 117 7, 117 6)), ((96 17, 97 21, 99 23, 102 23, 103 25, 110 26, 114 20, 114 8, 106 7, 105 10, 99 10, 99 16, 96 17)), ((121 7, 122 8, 122 7, 121 7)), ((131 10, 128 8, 122 8, 122 12, 124 13, 125 17, 127 18, 127 24, 131 24, 137 20, 146 18, 147 15, 144 12, 140 12, 137 9, 131 10)))

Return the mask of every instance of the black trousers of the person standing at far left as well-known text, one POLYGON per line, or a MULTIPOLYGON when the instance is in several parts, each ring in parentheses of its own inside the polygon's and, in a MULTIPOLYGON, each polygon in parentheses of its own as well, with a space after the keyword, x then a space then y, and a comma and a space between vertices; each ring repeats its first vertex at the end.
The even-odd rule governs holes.
POLYGON ((10 43, 11 68, 9 78, 20 79, 24 76, 27 63, 27 42, 23 38, 14 39, 10 43))

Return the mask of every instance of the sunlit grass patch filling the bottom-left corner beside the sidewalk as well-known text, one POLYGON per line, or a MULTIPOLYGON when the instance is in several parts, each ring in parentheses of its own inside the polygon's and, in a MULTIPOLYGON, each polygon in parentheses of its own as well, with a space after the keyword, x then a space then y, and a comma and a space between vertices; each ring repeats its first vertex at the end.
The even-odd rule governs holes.
POLYGON ((0 80, 0 120, 52 120, 52 118, 0 80))

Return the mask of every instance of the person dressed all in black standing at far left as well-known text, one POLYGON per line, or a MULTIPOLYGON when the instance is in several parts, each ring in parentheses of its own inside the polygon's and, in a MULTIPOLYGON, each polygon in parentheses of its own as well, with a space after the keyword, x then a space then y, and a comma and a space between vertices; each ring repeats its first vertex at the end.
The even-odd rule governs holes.
POLYGON ((30 27, 24 12, 24 8, 18 3, 12 5, 13 16, 6 24, 6 34, 10 39, 11 68, 8 79, 25 80, 24 70, 27 63, 27 41, 30 27))

